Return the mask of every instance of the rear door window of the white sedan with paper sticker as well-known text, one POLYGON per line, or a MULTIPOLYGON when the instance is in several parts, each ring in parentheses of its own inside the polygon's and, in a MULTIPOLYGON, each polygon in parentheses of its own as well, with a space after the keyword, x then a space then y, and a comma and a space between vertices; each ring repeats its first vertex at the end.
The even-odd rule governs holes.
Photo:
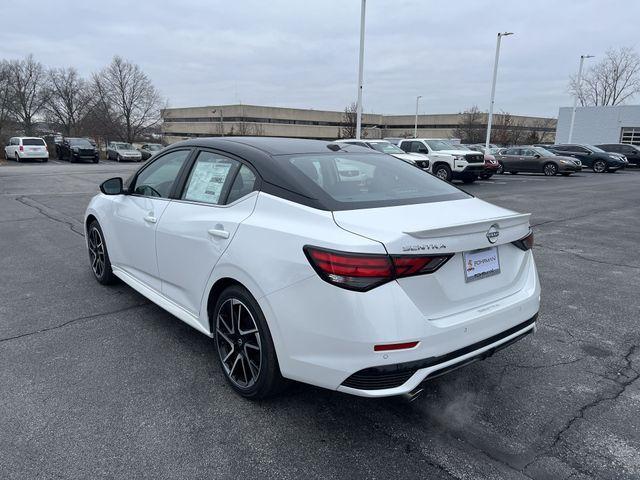
POLYGON ((219 205, 239 162, 213 152, 200 152, 182 195, 183 200, 219 205))

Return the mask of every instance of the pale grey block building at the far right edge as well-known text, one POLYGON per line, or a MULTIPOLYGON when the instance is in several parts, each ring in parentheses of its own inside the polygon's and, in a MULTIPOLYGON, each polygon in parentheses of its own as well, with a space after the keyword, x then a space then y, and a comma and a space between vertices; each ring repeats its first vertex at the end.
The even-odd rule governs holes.
MULTIPOLYGON (((557 143, 569 142, 571 110, 571 107, 563 107, 558 113, 557 143)), ((640 105, 576 108, 571 141, 640 145, 640 105)))

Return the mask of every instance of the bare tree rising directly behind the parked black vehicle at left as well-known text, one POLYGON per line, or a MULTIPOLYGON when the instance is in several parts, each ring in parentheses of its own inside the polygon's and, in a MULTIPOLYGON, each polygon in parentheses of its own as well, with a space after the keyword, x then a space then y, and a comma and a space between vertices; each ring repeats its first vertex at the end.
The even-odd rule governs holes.
POLYGON ((76 133, 78 123, 90 108, 87 82, 75 68, 59 68, 47 76, 45 110, 65 135, 76 133))

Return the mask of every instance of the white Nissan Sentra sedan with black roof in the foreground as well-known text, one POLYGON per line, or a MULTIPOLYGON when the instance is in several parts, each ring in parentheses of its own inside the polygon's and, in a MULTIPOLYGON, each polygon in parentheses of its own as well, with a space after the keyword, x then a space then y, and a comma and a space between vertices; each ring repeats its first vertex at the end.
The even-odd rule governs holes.
POLYGON ((198 138, 100 190, 97 280, 212 337, 245 397, 412 394, 536 328, 529 215, 371 149, 198 138))

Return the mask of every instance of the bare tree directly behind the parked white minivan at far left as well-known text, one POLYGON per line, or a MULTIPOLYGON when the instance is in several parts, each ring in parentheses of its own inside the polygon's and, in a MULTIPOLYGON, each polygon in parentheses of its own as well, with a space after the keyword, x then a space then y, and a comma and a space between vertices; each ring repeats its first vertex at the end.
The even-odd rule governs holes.
POLYGON ((33 55, 9 62, 12 111, 26 135, 33 134, 36 117, 47 102, 46 90, 43 88, 45 81, 44 67, 33 55))

